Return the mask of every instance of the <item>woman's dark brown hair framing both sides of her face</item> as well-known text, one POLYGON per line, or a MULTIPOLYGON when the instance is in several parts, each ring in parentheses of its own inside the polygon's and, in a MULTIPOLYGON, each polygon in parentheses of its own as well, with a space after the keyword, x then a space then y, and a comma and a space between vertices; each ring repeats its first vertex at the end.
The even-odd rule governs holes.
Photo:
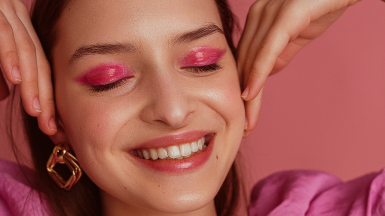
MULTIPOLYGON (((52 48, 57 39, 57 22, 64 8, 70 0, 37 0, 32 14, 32 22, 40 38, 44 52, 52 62, 52 48)), ((234 28, 237 26, 227 0, 215 0, 221 16, 227 42, 232 53, 235 47, 232 41, 234 28)), ((33 188, 39 191, 48 201, 50 209, 57 216, 98 216, 101 214, 99 188, 87 177, 80 178, 77 184, 66 191, 59 188, 46 172, 45 164, 51 154, 54 144, 38 127, 35 117, 31 117, 23 110, 26 134, 31 146, 31 153, 35 167, 33 188)), ((229 216, 238 208, 238 201, 243 191, 238 178, 235 162, 215 197, 215 206, 219 216, 229 216)), ((60 168, 60 167, 59 167, 60 168)), ((59 173, 65 173, 63 166, 59 173)), ((67 171, 68 172, 68 171, 67 171)))

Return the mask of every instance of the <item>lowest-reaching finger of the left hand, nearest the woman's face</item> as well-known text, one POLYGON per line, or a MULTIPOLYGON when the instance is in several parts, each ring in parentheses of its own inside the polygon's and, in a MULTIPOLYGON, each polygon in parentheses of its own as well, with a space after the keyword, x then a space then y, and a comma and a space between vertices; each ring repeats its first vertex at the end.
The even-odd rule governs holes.
POLYGON ((57 132, 57 126, 55 122, 55 106, 50 66, 28 13, 22 11, 19 17, 36 47, 39 99, 43 110, 43 113, 38 116, 39 128, 47 135, 54 135, 57 132))

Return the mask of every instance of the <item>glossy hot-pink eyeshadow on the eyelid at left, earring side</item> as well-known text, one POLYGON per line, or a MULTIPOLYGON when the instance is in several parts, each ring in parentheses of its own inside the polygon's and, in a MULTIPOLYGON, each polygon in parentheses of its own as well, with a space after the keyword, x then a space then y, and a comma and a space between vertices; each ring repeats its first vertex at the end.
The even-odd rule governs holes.
POLYGON ((76 80, 86 85, 106 85, 131 77, 133 73, 122 64, 102 64, 84 72, 76 80))

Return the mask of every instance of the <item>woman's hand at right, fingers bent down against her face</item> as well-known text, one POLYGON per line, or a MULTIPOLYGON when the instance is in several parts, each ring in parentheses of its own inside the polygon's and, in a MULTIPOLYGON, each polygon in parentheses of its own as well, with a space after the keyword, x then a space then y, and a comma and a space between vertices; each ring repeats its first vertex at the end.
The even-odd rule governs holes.
POLYGON ((257 125, 262 89, 269 74, 286 67, 301 48, 358 1, 258 0, 250 7, 237 50, 246 109, 244 137, 257 125))

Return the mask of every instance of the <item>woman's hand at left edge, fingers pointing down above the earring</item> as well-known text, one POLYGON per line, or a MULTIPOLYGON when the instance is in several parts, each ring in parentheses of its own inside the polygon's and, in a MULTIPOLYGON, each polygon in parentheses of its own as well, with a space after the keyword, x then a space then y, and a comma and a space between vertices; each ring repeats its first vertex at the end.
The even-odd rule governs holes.
MULTIPOLYGON (((19 85, 24 109, 38 117, 40 130, 55 134, 50 66, 21 0, 0 0, 0 65, 5 78, 19 85)), ((0 100, 7 95, 0 74, 0 100)))

